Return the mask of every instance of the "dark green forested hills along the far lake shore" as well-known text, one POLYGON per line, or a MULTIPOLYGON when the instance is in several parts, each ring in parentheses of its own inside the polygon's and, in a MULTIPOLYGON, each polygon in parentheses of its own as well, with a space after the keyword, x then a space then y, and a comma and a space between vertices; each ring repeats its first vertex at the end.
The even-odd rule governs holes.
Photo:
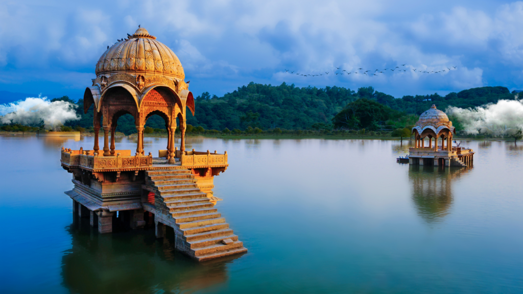
MULTIPOLYGON (((344 87, 296 87, 282 83, 279 86, 255 84, 238 87, 222 97, 208 92, 196 97, 195 116, 187 116, 190 129, 199 130, 361 130, 392 131, 413 125, 418 116, 436 104, 438 109, 448 106, 461 108, 496 103, 499 99, 515 99, 506 87, 480 87, 432 95, 403 96, 362 87, 358 91, 344 87), (199 128, 198 128, 199 127, 199 128), (249 128, 250 127, 250 128, 249 128)), ((92 109, 83 114, 83 99, 73 101, 67 96, 55 98, 76 103, 79 120, 67 121, 65 126, 90 128, 93 126, 92 109)), ((459 123, 459 122, 458 122, 459 123)), ((146 127, 160 131, 165 122, 153 116, 146 127)), ((117 131, 136 132, 130 115, 120 117, 117 131)))

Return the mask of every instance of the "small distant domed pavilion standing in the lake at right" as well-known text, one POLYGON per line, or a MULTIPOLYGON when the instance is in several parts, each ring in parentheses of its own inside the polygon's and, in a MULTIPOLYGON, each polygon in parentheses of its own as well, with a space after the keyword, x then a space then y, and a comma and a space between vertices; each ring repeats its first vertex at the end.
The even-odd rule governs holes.
POLYGON ((409 148, 409 163, 415 165, 470 166, 474 160, 472 149, 452 146, 456 129, 445 112, 436 105, 419 116, 412 133, 416 138, 414 148, 409 148), (428 138, 428 146, 425 146, 428 138), (434 144, 433 144, 434 139, 434 144), (438 139, 441 139, 438 143, 438 139))

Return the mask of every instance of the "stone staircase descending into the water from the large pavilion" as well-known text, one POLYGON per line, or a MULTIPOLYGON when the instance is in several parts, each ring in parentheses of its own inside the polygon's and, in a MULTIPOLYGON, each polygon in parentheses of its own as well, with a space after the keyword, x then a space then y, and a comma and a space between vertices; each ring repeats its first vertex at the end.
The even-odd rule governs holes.
POLYGON ((198 261, 247 251, 190 171, 146 171, 146 187, 155 193, 155 222, 174 229, 178 250, 198 261))

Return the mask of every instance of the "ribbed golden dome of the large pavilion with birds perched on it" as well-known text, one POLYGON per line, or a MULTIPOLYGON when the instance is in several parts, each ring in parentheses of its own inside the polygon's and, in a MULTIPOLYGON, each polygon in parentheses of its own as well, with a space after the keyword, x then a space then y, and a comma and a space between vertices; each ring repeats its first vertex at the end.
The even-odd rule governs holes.
POLYGON ((113 44, 96 63, 97 76, 116 73, 185 78, 176 54, 144 28, 113 44))

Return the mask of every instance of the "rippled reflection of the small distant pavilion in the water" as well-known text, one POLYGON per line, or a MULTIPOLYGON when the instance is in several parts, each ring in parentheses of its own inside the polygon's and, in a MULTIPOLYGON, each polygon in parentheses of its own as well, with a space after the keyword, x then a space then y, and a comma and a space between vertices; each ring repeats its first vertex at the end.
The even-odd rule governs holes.
POLYGON ((470 168, 410 165, 409 182, 418 215, 425 221, 440 222, 452 206, 452 183, 470 168))

